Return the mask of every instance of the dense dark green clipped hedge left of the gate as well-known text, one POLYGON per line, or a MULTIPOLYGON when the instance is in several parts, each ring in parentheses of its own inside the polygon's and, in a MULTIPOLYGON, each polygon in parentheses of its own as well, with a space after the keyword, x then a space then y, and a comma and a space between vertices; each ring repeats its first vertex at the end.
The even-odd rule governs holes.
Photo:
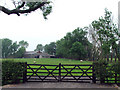
POLYGON ((23 82, 25 62, 2 61, 2 85, 23 82))

